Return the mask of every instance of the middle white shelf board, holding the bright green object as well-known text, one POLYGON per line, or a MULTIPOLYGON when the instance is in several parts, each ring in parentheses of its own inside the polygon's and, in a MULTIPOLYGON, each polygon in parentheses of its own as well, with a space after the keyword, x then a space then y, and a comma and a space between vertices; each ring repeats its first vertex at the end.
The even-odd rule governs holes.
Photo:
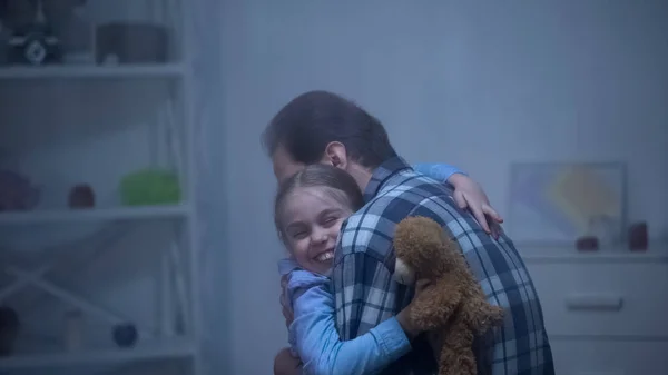
POLYGON ((188 205, 0 213, 0 226, 60 224, 66 221, 146 220, 178 218, 188 214, 188 205))

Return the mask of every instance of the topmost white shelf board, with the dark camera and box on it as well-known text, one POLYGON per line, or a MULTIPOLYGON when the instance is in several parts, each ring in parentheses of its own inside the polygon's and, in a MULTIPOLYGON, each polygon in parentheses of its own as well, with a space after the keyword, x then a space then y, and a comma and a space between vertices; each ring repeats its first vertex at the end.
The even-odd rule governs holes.
POLYGON ((181 63, 95 66, 68 65, 45 67, 2 67, 0 80, 16 79, 85 79, 85 78, 179 78, 186 69, 181 63))

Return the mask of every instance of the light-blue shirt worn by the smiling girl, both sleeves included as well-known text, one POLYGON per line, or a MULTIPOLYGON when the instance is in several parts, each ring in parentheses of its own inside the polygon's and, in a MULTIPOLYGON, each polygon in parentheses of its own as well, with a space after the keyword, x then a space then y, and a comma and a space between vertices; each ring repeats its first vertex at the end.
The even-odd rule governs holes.
MULTIPOLYGON (((441 182, 452 174, 461 174, 452 166, 440 164, 419 164, 415 168, 441 182)), ((411 351, 407 337, 393 316, 355 339, 341 341, 330 278, 304 270, 292 259, 282 259, 278 270, 287 277, 284 297, 294 314, 288 343, 293 354, 302 359, 304 374, 380 373, 411 351)))

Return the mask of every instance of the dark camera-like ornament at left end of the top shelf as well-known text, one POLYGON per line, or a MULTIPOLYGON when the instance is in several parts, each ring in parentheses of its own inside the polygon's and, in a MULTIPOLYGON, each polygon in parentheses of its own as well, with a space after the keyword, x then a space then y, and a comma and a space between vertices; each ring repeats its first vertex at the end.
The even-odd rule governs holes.
POLYGON ((61 61, 60 39, 45 17, 43 0, 36 1, 35 20, 17 24, 9 38, 10 63, 40 66, 61 61))

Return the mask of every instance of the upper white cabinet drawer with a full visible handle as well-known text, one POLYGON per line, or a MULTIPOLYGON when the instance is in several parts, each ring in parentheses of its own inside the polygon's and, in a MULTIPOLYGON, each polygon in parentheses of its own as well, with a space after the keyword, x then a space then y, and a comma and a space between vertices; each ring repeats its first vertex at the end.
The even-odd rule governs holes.
POLYGON ((529 264, 548 334, 668 337, 666 264, 529 264))

